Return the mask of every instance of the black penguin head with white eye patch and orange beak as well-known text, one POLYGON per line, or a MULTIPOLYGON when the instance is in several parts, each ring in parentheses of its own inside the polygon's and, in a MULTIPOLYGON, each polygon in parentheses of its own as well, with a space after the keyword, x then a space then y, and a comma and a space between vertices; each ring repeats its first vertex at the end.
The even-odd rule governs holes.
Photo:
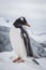
POLYGON ((26 20, 25 17, 17 18, 13 25, 16 28, 20 28, 21 26, 28 26, 28 27, 30 27, 30 25, 27 23, 27 20, 26 20))

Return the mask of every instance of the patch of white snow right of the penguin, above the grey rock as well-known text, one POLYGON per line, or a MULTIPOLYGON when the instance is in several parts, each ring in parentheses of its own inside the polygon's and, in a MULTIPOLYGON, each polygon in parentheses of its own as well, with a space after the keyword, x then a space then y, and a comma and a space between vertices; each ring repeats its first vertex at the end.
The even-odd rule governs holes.
POLYGON ((43 43, 46 41, 46 34, 40 36, 40 34, 30 33, 30 37, 32 37, 39 43, 43 43))

